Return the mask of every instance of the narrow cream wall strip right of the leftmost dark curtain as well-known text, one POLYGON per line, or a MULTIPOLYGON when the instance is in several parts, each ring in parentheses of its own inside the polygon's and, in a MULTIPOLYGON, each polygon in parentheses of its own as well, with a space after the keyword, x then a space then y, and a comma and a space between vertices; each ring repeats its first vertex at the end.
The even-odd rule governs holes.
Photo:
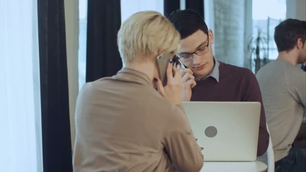
POLYGON ((66 49, 69 87, 69 111, 71 145, 74 145, 74 111, 79 93, 78 49, 79 49, 79 0, 65 0, 66 49))

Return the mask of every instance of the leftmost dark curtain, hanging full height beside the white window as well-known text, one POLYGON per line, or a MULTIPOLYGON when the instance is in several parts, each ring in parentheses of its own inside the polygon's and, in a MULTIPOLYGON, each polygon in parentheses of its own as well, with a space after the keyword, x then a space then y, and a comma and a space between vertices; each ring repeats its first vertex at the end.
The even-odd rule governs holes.
POLYGON ((64 0, 38 0, 44 172, 72 172, 64 0))

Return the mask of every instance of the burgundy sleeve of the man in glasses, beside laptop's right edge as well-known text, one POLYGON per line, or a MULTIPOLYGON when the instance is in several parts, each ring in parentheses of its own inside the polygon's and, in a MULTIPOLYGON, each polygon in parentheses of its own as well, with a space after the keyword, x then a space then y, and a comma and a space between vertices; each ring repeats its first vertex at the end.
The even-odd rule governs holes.
POLYGON ((257 147, 257 156, 261 156, 267 151, 269 145, 269 133, 267 131, 265 109, 259 84, 255 75, 250 70, 246 72, 243 90, 243 102, 259 102, 261 104, 257 147))

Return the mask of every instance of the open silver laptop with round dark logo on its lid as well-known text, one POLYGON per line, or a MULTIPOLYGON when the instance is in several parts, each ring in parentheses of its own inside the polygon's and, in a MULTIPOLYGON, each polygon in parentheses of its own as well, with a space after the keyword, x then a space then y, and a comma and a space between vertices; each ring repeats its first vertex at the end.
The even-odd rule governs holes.
POLYGON ((204 161, 256 160, 259 102, 182 102, 204 161))

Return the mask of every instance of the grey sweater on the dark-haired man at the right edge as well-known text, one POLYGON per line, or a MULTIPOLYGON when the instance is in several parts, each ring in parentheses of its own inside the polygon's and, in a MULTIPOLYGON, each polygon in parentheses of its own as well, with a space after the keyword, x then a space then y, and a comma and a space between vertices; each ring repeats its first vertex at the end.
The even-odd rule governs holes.
POLYGON ((262 67, 256 77, 278 161, 288 155, 306 112, 306 72, 275 60, 262 67))

